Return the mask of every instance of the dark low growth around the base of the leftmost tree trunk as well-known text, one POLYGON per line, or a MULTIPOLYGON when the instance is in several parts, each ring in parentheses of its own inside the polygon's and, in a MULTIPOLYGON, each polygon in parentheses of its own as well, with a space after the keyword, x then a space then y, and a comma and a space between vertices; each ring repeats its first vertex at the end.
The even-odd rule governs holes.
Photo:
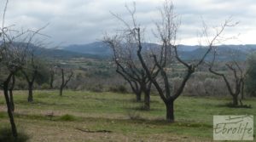
POLYGON ((0 142, 26 142, 28 139, 26 133, 18 133, 18 138, 15 139, 10 128, 0 129, 0 142))

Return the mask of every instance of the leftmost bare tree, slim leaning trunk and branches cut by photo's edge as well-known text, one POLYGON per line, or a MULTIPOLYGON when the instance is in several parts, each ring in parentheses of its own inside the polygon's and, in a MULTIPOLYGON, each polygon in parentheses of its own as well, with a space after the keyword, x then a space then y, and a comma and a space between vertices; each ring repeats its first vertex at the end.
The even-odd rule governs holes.
POLYGON ((3 10, 2 26, 0 27, 0 70, 4 71, 5 73, 5 77, 1 78, 0 88, 3 88, 12 133, 15 139, 17 139, 18 133, 13 116, 13 96, 12 91, 10 91, 9 95, 9 88, 12 90, 14 87, 15 73, 20 71, 25 65, 28 45, 32 42, 32 38, 37 35, 38 31, 40 30, 17 31, 12 28, 13 26, 5 26, 5 14, 8 3, 9 1, 6 0, 3 10), (9 86, 11 81, 12 85, 9 86))

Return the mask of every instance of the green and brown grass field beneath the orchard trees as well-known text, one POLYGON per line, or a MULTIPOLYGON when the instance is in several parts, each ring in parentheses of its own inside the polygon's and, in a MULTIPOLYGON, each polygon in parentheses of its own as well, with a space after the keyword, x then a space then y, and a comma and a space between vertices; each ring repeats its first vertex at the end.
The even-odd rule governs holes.
MULTIPOLYGON (((165 105, 154 95, 151 111, 143 111, 133 94, 65 91, 60 97, 57 91, 35 91, 31 104, 25 91, 14 94, 17 128, 32 142, 212 141, 213 115, 256 114, 256 99, 244 100, 253 107, 245 109, 226 107, 230 98, 181 96, 175 102, 176 122, 169 123, 165 105)), ((3 94, 0 128, 9 128, 3 94)))

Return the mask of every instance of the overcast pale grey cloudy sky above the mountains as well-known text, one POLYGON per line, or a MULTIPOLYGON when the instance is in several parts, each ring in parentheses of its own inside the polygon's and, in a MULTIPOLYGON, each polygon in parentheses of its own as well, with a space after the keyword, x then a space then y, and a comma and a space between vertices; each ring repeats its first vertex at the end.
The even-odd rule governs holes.
MULTIPOLYGON (((1 1, 1 17, 5 0, 1 1)), ((125 3, 131 0, 9 0, 6 25, 16 28, 38 29, 49 23, 45 34, 52 46, 61 44, 92 43, 101 40, 104 32, 117 29, 109 11, 127 17, 125 3)), ((136 0, 137 19, 147 31, 152 31, 153 20, 159 18, 158 9, 163 0, 136 0)), ((202 19, 208 26, 218 26, 232 16, 239 25, 228 29, 227 36, 238 36, 235 44, 256 43, 255 0, 173 0, 174 9, 181 17, 178 42, 198 44, 202 19)), ((148 37, 148 42, 154 42, 148 37)))

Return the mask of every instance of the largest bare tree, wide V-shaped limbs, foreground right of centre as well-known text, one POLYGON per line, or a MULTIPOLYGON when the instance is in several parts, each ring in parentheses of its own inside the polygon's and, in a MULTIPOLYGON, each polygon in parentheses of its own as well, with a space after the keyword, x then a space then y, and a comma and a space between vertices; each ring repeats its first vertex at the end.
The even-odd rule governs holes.
MULTIPOLYGON (((133 43, 137 47, 137 58, 140 61, 143 71, 146 72, 150 82, 154 84, 154 87, 158 91, 160 98, 166 105, 166 120, 174 121, 174 101, 183 93, 183 88, 188 82, 191 75, 196 71, 199 65, 201 65, 213 48, 214 43, 218 41, 218 37, 223 33, 224 29, 229 26, 229 20, 224 22, 224 25, 220 26, 212 38, 207 38, 206 52, 201 55, 200 59, 195 61, 186 61, 180 58, 178 54, 178 45, 176 45, 177 30, 180 25, 178 15, 173 11, 172 2, 166 0, 163 4, 163 8, 160 9, 161 20, 156 22, 156 32, 154 36, 160 39, 160 47, 151 50, 150 58, 146 59, 143 56, 143 30, 139 24, 137 24, 135 10, 128 9, 131 14, 131 25, 127 24, 125 20, 119 18, 124 24, 125 31, 123 33, 126 39, 126 43, 133 43), (127 42, 128 41, 128 42, 127 42), (131 41, 131 42, 130 42, 131 41), (150 60, 150 61, 148 61, 150 60), (148 65, 148 63, 151 63, 148 65), (152 64, 153 63, 153 64, 152 64), (186 71, 183 74, 183 80, 177 90, 172 90, 171 82, 168 77, 170 70, 168 66, 173 64, 181 64, 186 71), (153 66, 154 70, 151 70, 153 66)), ((207 35, 207 28, 204 26, 204 34, 207 35)))

